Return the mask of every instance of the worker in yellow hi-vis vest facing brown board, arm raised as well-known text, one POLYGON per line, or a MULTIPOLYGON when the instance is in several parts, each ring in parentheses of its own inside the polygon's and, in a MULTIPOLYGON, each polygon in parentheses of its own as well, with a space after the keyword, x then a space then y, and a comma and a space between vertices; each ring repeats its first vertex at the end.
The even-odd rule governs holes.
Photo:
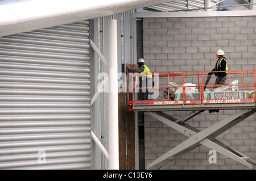
MULTIPOLYGON (((148 69, 147 65, 144 63, 144 59, 139 58, 137 61, 138 69, 131 69, 130 66, 127 66, 127 69, 133 73, 145 73, 142 75, 142 87, 152 87, 152 74, 150 69, 148 69)), ((142 91, 144 91, 144 89, 142 91)), ((148 95, 152 94, 152 89, 146 89, 145 93, 146 94, 144 94, 144 100, 149 100, 150 97, 148 95)))

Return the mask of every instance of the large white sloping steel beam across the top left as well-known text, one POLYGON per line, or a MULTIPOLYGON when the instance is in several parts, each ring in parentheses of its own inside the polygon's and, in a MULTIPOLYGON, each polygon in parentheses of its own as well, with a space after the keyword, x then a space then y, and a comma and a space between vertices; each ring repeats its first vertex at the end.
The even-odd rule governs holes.
POLYGON ((0 1, 0 37, 99 18, 168 0, 34 0, 0 1))

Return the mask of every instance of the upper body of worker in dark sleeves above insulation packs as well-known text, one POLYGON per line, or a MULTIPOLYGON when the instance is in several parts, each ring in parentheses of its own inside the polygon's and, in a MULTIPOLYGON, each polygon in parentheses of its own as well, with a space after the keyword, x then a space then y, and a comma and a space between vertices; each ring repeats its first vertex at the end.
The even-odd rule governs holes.
POLYGON ((224 50, 219 49, 217 51, 217 58, 215 67, 212 71, 220 71, 220 72, 209 72, 208 77, 211 77, 212 74, 215 74, 216 81, 215 84, 224 84, 226 81, 226 74, 228 73, 228 63, 226 62, 226 58, 224 57, 224 50))

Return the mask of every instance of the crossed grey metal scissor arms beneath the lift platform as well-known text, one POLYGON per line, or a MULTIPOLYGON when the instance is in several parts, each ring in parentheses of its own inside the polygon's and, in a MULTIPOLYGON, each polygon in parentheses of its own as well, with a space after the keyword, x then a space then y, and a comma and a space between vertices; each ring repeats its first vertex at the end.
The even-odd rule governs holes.
MULTIPOLYGON (((163 112, 148 112, 148 114, 152 117, 155 117, 159 121, 162 121, 164 124, 174 128, 176 131, 184 134, 189 138, 155 161, 151 162, 149 165, 147 165, 147 169, 150 169, 152 166, 158 166, 158 168, 160 168, 166 163, 180 157, 188 151, 199 147, 200 145, 204 145, 210 149, 216 150, 218 153, 221 153, 226 157, 234 159, 235 161, 249 167, 250 169, 253 169, 253 165, 256 164, 256 161, 246 157, 237 150, 229 148, 229 146, 226 146, 222 142, 218 141, 215 137, 225 132, 227 129, 233 127, 237 123, 240 123, 240 121, 246 119, 246 117, 253 115, 255 112, 256 110, 241 110, 234 115, 227 117, 226 119, 204 129, 203 131, 199 131, 198 129, 184 123, 184 120, 188 120, 188 115, 185 115, 177 120, 163 112)), ((197 115, 197 113, 200 113, 200 111, 192 111, 191 117, 193 117, 193 115, 197 115)))

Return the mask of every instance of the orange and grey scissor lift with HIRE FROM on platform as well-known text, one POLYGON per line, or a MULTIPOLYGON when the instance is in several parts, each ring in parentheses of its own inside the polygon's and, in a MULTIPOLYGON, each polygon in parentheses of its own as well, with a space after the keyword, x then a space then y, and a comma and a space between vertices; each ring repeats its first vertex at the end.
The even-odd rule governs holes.
MULTIPOLYGON (((129 73, 127 76, 127 104, 130 111, 134 112, 147 112, 148 115, 155 117, 162 123, 170 126, 176 131, 184 134, 188 137, 187 140, 181 142, 175 148, 171 149, 167 153, 163 154, 161 157, 157 158, 155 161, 147 165, 147 169, 153 166, 158 166, 160 169, 166 163, 180 157, 181 155, 191 151, 200 145, 207 146, 210 149, 216 150, 218 153, 229 157, 242 165, 253 169, 256 161, 243 155, 237 150, 230 148, 224 143, 218 141, 216 137, 221 133, 225 132, 234 125, 240 123, 242 120, 253 115, 256 112, 255 104, 255 73, 256 70, 244 70, 244 71, 228 71, 228 82, 224 86, 237 86, 238 90, 250 91, 250 96, 245 98, 236 99, 207 99, 204 96, 204 87, 206 90, 213 90, 220 85, 204 85, 204 77, 207 76, 207 72, 193 72, 193 73, 152 73, 152 79, 154 80, 154 86, 143 87, 139 85, 139 77, 145 76, 145 74, 133 74, 129 73), (231 79, 240 79, 240 83, 232 85, 230 83, 231 79), (200 94, 197 100, 192 100, 186 98, 186 86, 185 82, 192 80, 197 80, 197 85, 195 86, 199 90, 200 94), (166 85, 165 86, 165 82, 166 85), (182 90, 182 97, 180 100, 171 100, 170 86, 169 82, 180 81, 180 88, 182 90), (248 83, 251 82, 251 83, 248 83), (164 86, 160 86, 164 85, 164 86), (165 99, 155 98, 152 100, 137 100, 136 92, 143 92, 145 89, 152 89, 154 91, 168 90, 168 96, 165 99), (224 120, 218 121, 218 123, 200 131, 190 125, 186 124, 186 121, 192 119, 201 112, 207 110, 239 110, 237 113, 227 117, 224 120), (167 115, 164 111, 188 111, 187 115, 180 117, 180 119, 175 119, 174 117, 167 115)), ((188 86, 191 87, 191 86, 188 86)), ((173 88, 173 87, 172 87, 173 88)), ((215 89, 216 90, 216 89, 215 89)), ((143 93, 142 93, 143 94, 143 93)))

